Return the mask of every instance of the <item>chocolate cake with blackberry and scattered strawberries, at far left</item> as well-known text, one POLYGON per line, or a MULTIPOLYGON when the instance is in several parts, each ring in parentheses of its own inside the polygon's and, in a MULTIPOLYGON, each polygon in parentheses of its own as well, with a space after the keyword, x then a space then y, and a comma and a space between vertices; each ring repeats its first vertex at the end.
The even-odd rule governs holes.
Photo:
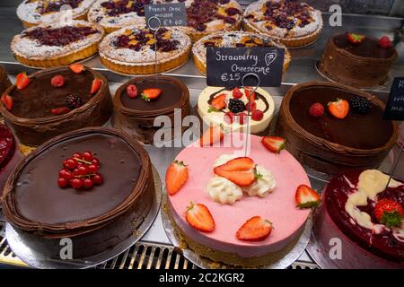
POLYGON ((75 74, 68 67, 52 68, 31 74, 30 79, 31 83, 23 90, 13 85, 5 91, 13 98, 11 110, 3 103, 0 105, 5 122, 21 143, 40 145, 85 126, 102 126, 110 119, 113 106, 107 79, 91 68, 86 67, 82 74, 75 74), (56 75, 66 79, 61 88, 50 83, 56 75), (94 79, 101 79, 101 87, 91 94, 94 79), (52 109, 66 107, 68 95, 79 97, 83 105, 63 115, 53 114, 52 109))

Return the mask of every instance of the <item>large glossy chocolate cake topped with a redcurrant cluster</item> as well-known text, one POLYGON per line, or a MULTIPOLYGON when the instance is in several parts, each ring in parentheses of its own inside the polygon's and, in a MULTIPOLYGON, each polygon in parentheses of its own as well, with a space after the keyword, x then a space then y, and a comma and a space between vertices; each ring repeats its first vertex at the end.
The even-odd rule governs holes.
POLYGON ((129 136, 101 127, 85 128, 44 143, 13 170, 4 188, 4 215, 30 237, 31 248, 60 259, 60 239, 69 238, 73 259, 115 247, 142 224, 154 198, 147 152, 129 136), (92 151, 103 183, 91 189, 58 187, 63 162, 92 151))

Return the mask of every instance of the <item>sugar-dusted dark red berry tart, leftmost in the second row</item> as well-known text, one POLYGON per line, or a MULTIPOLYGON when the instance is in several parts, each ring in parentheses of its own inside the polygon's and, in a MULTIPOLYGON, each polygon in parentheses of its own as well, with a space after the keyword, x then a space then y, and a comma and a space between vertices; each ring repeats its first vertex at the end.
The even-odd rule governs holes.
POLYGON ((23 30, 14 36, 11 49, 22 65, 69 65, 96 54, 103 36, 104 30, 94 23, 53 23, 23 30))

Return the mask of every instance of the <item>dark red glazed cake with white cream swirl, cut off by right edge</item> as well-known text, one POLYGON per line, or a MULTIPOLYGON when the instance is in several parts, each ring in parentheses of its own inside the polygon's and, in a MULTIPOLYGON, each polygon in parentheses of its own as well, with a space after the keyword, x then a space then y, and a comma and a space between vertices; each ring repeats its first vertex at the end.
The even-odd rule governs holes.
POLYGON ((379 170, 353 170, 325 188, 313 230, 325 252, 330 239, 341 240, 336 267, 404 267, 404 183, 391 179, 385 189, 388 179, 379 170))

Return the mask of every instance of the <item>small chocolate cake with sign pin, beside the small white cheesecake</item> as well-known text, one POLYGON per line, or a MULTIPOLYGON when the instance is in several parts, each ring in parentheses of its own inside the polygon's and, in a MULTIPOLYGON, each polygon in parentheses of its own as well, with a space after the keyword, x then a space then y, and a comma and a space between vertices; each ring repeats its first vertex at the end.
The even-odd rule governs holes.
POLYGON ((190 112, 187 86, 171 76, 159 75, 158 88, 162 90, 162 94, 151 101, 143 100, 141 92, 155 87, 155 76, 136 77, 120 86, 114 97, 115 111, 112 126, 127 132, 141 143, 154 143, 154 134, 157 130, 164 128, 164 126, 154 126, 156 117, 169 117, 171 120, 171 126, 166 127, 170 129, 171 138, 164 140, 174 138, 176 126, 180 126, 183 131, 185 128, 181 125, 182 119, 189 116, 190 112), (127 95, 129 84, 137 87, 139 95, 135 99, 127 95), (175 109, 180 109, 180 123, 177 122, 178 116, 174 117, 175 109))

